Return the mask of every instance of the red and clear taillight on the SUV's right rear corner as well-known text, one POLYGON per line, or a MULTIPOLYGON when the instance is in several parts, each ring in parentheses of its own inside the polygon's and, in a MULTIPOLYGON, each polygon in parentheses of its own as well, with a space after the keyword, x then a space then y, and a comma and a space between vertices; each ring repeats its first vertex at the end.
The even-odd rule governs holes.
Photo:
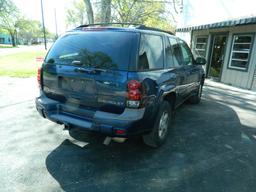
POLYGON ((127 106, 131 108, 138 108, 140 106, 140 100, 142 98, 141 83, 137 80, 131 80, 127 84, 128 100, 127 106))

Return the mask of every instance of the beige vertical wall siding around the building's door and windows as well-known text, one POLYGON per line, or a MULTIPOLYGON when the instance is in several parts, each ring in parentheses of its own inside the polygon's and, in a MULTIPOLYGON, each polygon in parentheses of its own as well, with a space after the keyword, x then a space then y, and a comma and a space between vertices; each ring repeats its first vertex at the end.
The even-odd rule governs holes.
MULTIPOLYGON (((205 29, 193 31, 192 33, 192 50, 195 46, 195 41, 197 36, 205 36, 208 35, 208 44, 206 50, 206 60, 207 63, 210 63, 211 56, 211 43, 214 34, 218 33, 227 33, 227 45, 225 50, 225 57, 222 66, 222 73, 220 81, 229 85, 233 85, 236 87, 241 87, 245 89, 256 89, 256 25, 245 25, 245 26, 235 26, 235 27, 227 27, 227 28, 218 28, 218 29, 205 29), (245 33, 253 33, 254 41, 251 50, 251 56, 249 60, 249 67, 247 71, 239 71, 234 69, 229 69, 229 60, 230 53, 232 49, 232 39, 234 34, 245 34, 245 33)), ((188 42, 189 43, 189 42, 188 42)))

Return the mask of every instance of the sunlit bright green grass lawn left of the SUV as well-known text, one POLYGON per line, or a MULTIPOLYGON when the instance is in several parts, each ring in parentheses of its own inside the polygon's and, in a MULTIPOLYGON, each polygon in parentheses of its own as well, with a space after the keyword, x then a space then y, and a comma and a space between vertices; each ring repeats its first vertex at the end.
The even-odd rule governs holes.
POLYGON ((31 77, 36 76, 42 62, 37 57, 45 57, 46 51, 26 51, 0 58, 0 76, 31 77))

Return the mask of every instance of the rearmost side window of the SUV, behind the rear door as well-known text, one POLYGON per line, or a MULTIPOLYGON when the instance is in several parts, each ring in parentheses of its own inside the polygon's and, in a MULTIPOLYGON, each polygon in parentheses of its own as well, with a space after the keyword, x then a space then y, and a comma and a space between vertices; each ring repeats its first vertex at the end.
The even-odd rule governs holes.
POLYGON ((141 34, 138 69, 162 69, 163 60, 162 37, 141 34))

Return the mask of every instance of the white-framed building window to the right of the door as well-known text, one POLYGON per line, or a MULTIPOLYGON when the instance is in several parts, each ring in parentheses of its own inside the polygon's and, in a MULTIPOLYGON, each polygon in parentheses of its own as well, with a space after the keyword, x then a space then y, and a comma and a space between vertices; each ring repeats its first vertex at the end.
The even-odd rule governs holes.
POLYGON ((229 68, 247 70, 253 35, 234 35, 230 54, 229 68))

